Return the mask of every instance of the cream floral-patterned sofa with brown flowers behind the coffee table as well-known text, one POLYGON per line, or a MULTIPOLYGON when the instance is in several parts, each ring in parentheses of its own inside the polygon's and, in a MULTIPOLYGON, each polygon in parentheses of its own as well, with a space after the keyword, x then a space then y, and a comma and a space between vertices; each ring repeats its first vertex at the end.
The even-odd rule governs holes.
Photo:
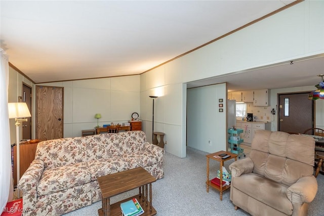
POLYGON ((23 215, 61 215, 101 200, 97 177, 142 166, 164 177, 165 151, 142 131, 44 141, 18 183, 23 215))

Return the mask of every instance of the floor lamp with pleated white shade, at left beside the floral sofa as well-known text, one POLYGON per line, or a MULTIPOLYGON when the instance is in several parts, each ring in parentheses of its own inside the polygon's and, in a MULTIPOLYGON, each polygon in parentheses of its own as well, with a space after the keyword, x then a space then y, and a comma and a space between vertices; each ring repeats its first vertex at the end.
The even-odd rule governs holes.
MULTIPOLYGON (((8 103, 9 118, 14 118, 16 123, 16 147, 17 147, 17 184, 20 180, 20 154, 19 154, 19 126, 20 122, 27 121, 26 117, 31 117, 28 106, 24 102, 8 103)), ((19 190, 17 197, 20 198, 19 190)))

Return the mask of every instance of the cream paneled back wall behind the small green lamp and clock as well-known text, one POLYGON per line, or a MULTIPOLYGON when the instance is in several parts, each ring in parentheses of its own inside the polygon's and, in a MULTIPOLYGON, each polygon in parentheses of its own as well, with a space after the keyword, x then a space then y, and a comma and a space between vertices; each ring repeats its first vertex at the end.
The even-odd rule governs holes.
POLYGON ((83 129, 93 129, 97 126, 96 113, 101 113, 101 126, 128 122, 133 112, 141 118, 139 75, 43 85, 64 87, 64 137, 78 137, 83 129))

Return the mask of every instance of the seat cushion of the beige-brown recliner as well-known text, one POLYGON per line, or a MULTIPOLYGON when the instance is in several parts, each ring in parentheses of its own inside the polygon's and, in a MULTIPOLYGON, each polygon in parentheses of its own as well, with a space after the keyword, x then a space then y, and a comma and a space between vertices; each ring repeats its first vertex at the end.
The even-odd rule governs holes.
POLYGON ((250 173, 233 178, 231 187, 287 215, 292 214, 293 205, 286 195, 286 185, 250 173))

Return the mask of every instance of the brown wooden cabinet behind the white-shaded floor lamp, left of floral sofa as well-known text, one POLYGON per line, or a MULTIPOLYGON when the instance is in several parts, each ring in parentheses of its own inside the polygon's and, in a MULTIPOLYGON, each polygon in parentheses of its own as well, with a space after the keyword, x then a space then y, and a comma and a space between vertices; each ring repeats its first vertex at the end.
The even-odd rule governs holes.
MULTIPOLYGON (((36 148, 38 143, 21 143, 19 145, 20 152, 20 178, 28 169, 30 163, 35 158, 36 148)), ((14 146, 14 185, 17 185, 17 146, 14 146)))

